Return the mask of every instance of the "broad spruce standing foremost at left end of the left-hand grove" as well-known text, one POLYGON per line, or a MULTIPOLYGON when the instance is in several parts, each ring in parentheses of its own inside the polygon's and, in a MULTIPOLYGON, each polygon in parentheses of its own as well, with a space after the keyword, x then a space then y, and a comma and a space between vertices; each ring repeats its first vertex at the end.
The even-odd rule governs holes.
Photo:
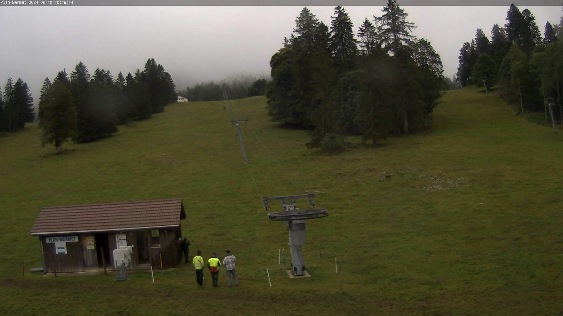
POLYGON ((55 80, 44 95, 42 112, 39 122, 39 127, 43 129, 41 145, 55 145, 55 152, 58 154, 64 142, 69 138, 74 141, 78 136, 72 93, 60 80, 55 80))

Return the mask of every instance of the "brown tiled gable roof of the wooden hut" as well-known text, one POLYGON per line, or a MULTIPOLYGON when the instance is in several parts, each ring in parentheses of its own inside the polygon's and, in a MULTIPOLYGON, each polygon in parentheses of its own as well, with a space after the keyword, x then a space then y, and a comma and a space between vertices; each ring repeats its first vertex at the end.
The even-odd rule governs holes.
POLYGON ((32 235, 84 231, 125 231, 180 225, 186 213, 181 198, 43 207, 32 235))

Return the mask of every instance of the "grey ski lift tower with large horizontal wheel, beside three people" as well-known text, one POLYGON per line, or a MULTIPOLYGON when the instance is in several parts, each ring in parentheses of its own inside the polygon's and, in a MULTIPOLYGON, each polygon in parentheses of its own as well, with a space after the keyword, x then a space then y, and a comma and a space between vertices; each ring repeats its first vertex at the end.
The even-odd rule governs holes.
POLYGON ((306 243, 305 223, 309 219, 322 218, 328 216, 326 209, 305 209, 297 208, 297 200, 307 198, 311 206, 315 206, 315 193, 262 197, 264 209, 268 210, 268 201, 278 200, 282 202, 283 211, 269 213, 270 220, 283 220, 289 230, 289 252, 291 253, 291 265, 293 276, 299 277, 305 274, 305 263, 301 246, 306 243))

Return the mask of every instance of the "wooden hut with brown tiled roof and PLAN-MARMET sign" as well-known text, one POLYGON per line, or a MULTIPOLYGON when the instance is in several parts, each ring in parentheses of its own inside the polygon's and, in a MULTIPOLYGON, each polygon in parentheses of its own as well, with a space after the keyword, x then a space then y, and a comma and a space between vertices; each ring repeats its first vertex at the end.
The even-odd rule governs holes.
POLYGON ((113 250, 133 246, 127 269, 173 268, 182 260, 181 198, 43 207, 30 234, 44 272, 115 269, 113 250))

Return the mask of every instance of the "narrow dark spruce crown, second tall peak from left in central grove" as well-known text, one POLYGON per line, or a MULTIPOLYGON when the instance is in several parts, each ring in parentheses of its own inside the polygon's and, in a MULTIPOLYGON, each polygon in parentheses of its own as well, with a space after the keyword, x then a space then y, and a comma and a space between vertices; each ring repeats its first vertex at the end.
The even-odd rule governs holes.
POLYGON ((330 27, 330 50, 336 57, 340 72, 350 71, 354 67, 356 53, 356 40, 352 29, 352 21, 348 13, 341 6, 334 8, 336 16, 331 17, 332 26, 330 27))

